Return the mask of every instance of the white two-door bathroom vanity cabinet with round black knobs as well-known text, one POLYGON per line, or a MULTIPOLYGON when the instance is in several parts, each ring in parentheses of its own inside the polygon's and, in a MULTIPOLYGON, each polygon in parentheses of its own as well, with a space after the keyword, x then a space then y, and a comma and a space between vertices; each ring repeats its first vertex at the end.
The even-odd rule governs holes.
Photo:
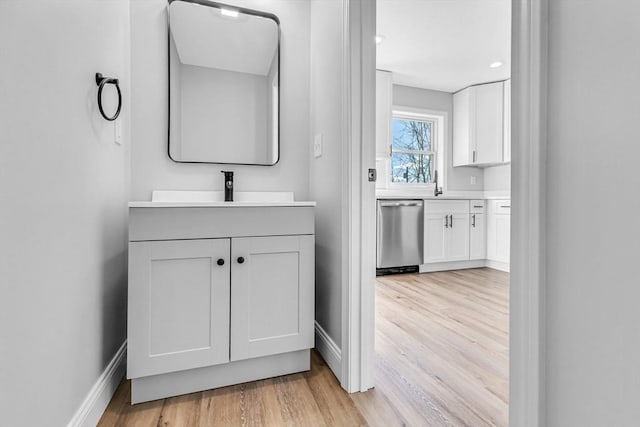
POLYGON ((312 206, 129 215, 132 403, 309 369, 312 206))

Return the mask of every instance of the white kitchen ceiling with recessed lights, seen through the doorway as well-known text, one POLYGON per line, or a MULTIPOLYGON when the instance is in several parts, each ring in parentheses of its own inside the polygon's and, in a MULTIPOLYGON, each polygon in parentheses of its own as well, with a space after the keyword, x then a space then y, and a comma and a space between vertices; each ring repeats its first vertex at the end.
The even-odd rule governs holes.
POLYGON ((377 0, 376 33, 376 67, 396 84, 456 92, 510 77, 511 0, 377 0))

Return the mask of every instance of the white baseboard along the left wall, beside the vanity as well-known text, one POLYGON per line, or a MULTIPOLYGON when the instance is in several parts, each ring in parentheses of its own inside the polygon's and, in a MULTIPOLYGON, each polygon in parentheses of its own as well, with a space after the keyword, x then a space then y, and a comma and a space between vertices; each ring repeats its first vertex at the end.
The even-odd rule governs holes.
POLYGON ((82 405, 69 421, 67 427, 95 426, 116 392, 126 370, 127 340, 109 362, 96 383, 89 390, 82 405))

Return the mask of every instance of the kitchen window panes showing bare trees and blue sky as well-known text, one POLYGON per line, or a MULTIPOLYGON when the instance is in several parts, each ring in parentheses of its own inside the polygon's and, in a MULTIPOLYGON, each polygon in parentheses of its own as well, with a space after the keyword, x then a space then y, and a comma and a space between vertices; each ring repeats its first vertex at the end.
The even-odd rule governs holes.
POLYGON ((391 120, 391 182, 424 185, 433 182, 438 146, 438 119, 395 113, 391 120))

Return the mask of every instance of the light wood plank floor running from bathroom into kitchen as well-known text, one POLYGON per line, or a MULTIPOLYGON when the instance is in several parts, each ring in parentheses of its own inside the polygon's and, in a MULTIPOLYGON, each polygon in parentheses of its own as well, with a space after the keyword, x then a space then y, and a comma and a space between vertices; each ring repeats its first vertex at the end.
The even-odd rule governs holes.
POLYGON ((508 275, 490 269, 376 280, 376 387, 309 372, 131 406, 123 382, 99 426, 506 426, 508 275))

